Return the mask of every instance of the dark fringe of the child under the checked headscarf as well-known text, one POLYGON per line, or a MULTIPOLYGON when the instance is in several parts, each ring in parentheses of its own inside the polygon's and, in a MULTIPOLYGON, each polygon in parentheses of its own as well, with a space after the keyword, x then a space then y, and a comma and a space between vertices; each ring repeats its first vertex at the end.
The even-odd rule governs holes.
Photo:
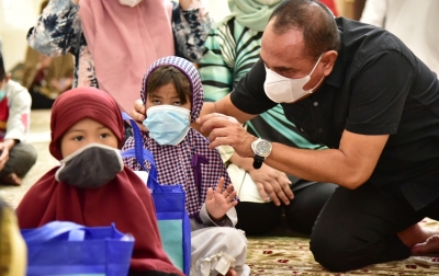
POLYGON ((148 78, 146 83, 146 96, 149 94, 154 96, 160 87, 172 83, 176 87, 177 93, 180 97, 181 104, 185 104, 192 99, 191 83, 188 77, 173 66, 159 66, 157 67, 148 78))

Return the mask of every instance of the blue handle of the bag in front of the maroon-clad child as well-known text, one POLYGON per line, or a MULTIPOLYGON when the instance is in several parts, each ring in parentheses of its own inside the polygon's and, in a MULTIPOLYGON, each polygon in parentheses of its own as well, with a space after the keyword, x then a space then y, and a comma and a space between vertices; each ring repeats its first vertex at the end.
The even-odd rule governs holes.
MULTIPOLYGON (((114 227, 114 225, 112 225, 114 227)), ((26 242, 45 242, 53 240, 64 233, 69 233, 69 241, 83 241, 86 235, 85 226, 70 221, 52 221, 40 228, 26 231, 23 229, 23 238, 26 242)))

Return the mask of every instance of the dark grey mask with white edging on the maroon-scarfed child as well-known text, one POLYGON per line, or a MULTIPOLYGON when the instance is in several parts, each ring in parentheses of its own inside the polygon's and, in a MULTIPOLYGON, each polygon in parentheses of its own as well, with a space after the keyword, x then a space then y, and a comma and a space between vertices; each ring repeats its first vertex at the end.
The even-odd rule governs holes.
POLYGON ((124 164, 117 149, 90 143, 60 161, 55 179, 80 188, 97 188, 113 180, 124 164))

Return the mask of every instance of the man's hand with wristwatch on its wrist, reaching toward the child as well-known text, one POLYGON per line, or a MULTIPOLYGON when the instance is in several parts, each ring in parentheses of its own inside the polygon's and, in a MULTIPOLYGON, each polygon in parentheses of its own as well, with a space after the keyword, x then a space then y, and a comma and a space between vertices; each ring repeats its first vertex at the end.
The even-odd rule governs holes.
POLYGON ((214 149, 218 146, 230 146, 235 152, 243 158, 252 158, 255 156, 251 150, 251 142, 257 138, 243 127, 243 125, 234 117, 229 117, 219 113, 213 113, 196 119, 201 125, 201 131, 210 133, 210 148, 214 149))

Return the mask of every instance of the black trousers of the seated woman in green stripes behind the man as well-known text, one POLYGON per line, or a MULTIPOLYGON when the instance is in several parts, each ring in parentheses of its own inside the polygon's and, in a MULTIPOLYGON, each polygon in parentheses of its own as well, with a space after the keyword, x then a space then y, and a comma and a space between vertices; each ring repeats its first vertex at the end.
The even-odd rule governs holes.
POLYGON ((240 202, 235 207, 238 214, 236 228, 244 230, 247 235, 263 235, 277 228, 284 216, 293 231, 309 234, 314 221, 337 185, 300 184, 301 186, 305 184, 305 187, 294 191, 294 199, 288 206, 282 204, 278 207, 272 202, 266 204, 240 202))

